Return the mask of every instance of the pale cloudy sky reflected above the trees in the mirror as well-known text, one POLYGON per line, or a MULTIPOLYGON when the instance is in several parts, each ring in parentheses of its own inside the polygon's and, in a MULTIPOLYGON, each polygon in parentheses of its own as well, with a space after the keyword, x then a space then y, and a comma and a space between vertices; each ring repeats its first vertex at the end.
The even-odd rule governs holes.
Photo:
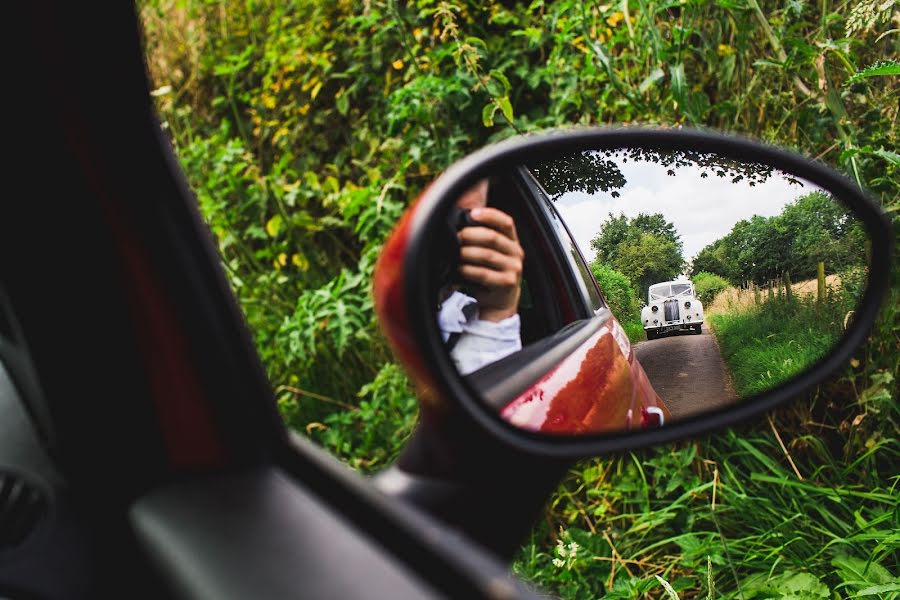
POLYGON ((777 215, 786 203, 819 189, 808 181, 802 182, 803 187, 788 183, 777 171, 765 183, 750 187, 746 181, 734 184, 713 173, 702 179, 704 169, 697 167, 675 169, 674 177, 666 174, 667 167, 653 162, 620 162, 619 168, 627 183, 617 190, 618 198, 610 192, 569 192, 554 203, 587 260, 594 257, 591 239, 609 213, 628 217, 662 213, 675 225, 684 243, 684 257, 691 260, 738 221, 777 215))

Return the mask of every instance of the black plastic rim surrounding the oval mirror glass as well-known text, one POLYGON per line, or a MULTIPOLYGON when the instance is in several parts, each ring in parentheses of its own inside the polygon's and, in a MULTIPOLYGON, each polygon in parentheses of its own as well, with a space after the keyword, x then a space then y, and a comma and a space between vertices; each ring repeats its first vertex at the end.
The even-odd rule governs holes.
MULTIPOLYGON (((402 294, 403 305, 408 312, 406 326, 409 331, 405 333, 407 347, 412 342, 417 354, 416 368, 439 390, 442 398, 452 399, 451 402, 466 414, 473 425, 477 424, 479 429, 489 432, 490 436, 506 446, 546 458, 576 459, 696 436, 747 422, 801 395, 845 363, 865 340, 888 287, 892 255, 890 225, 886 217, 875 202, 845 177, 820 163, 785 150, 704 131, 604 128, 568 130, 510 139, 482 149, 451 166, 423 193, 409 217, 402 233, 402 294), (868 286, 853 323, 827 356, 798 377, 771 391, 748 398, 746 402, 732 406, 727 411, 684 420, 663 428, 577 439, 551 437, 516 429, 485 410, 471 387, 457 374, 443 349, 433 315, 434 303, 430 296, 436 288, 433 269, 429 267, 434 260, 431 240, 439 235, 439 229, 445 225, 442 215, 446 214, 454 199, 492 173, 560 153, 622 147, 716 153, 736 160, 762 163, 828 190, 859 219, 871 241, 868 286)), ((391 251, 396 253, 398 248, 391 251)), ((381 285, 385 286, 385 283, 382 282, 381 285)), ((378 283, 376 292, 377 289, 378 283)), ((384 317, 383 310, 381 313, 384 317)), ((392 333, 390 323, 386 325, 386 330, 389 337, 396 335, 392 333)), ((402 352, 400 355, 402 358, 402 352)), ((427 412, 428 407, 424 411, 427 412)))

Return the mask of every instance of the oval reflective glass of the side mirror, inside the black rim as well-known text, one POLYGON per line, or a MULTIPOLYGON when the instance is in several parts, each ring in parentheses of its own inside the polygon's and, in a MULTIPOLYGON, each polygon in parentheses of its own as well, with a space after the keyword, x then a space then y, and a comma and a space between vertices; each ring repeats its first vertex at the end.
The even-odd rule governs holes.
POLYGON ((825 189, 685 150, 579 151, 487 174, 442 216, 436 319, 500 418, 584 435, 733 407, 824 358, 865 230, 825 189))

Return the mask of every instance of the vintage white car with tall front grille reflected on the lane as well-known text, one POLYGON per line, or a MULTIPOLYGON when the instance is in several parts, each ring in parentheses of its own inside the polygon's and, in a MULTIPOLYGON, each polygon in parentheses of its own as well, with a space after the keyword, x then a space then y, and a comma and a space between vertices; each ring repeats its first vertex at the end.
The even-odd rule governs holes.
POLYGON ((670 331, 703 330, 703 304, 694 295, 694 284, 682 279, 650 286, 647 306, 641 309, 641 322, 647 339, 653 340, 670 331))

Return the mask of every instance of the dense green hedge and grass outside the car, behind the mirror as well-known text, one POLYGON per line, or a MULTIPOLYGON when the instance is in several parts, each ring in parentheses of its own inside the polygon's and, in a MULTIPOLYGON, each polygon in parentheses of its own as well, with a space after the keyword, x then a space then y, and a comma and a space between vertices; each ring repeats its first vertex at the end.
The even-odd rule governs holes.
MULTIPOLYGON (((468 151, 551 126, 712 127, 819 157, 900 214, 896 76, 854 78, 900 55, 893 0, 139 9, 163 126, 282 411, 363 470, 392 459, 415 413, 374 322, 372 259, 468 151)), ((713 582, 738 598, 757 576, 817 589, 801 575, 890 597, 873 573, 900 574, 896 339, 889 309, 854 363, 772 426, 580 463, 515 570, 563 597, 659 596, 655 575, 681 597, 713 582), (560 528, 581 546, 563 567, 560 528)))

